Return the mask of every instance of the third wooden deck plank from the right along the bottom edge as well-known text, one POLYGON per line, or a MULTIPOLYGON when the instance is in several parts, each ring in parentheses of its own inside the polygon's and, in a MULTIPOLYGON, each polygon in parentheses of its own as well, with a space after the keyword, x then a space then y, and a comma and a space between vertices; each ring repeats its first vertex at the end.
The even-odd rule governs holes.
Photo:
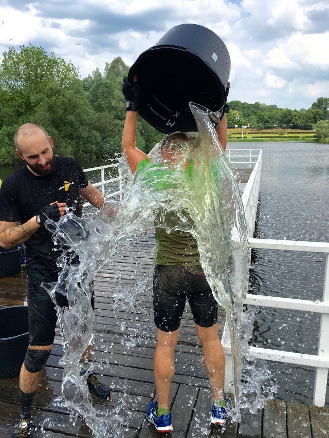
POLYGON ((283 400, 270 400, 264 407, 263 438, 286 438, 287 409, 283 400))

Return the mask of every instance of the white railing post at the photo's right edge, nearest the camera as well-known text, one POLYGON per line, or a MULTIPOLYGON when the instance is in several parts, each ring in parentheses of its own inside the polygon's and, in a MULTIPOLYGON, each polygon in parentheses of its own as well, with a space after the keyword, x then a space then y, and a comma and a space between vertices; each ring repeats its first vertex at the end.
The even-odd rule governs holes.
MULTIPOLYGON (((325 274, 323 286, 323 301, 329 300, 329 254, 326 255, 325 274)), ((318 355, 325 356, 329 353, 329 315, 321 314, 318 355)), ((324 406, 326 394, 326 382, 328 378, 327 368, 317 368, 315 372, 313 404, 315 406, 324 406)))

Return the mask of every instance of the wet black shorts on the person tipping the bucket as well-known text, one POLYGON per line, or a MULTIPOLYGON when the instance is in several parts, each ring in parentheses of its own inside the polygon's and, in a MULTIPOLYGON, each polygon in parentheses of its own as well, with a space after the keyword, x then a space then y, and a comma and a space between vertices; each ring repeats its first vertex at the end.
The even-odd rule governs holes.
POLYGON ((201 268, 156 265, 153 275, 154 322, 158 329, 173 332, 180 326, 189 300, 194 322, 212 327, 217 322, 218 304, 201 268))

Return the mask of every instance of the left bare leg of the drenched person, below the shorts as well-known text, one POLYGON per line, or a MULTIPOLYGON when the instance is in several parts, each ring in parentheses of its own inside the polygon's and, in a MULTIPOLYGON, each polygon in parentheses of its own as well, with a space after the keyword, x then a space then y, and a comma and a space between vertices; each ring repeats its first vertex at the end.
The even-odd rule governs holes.
POLYGON ((163 332, 157 329, 157 346, 154 354, 154 379, 158 406, 169 409, 171 382, 175 374, 174 352, 179 329, 163 332))

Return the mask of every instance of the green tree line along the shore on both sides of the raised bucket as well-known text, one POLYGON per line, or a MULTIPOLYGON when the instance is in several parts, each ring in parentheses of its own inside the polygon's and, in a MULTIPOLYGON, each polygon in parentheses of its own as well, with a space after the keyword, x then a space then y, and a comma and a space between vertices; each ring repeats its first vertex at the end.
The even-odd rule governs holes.
MULTIPOLYGON (((20 46, 3 53, 0 64, 0 165, 19 162, 13 136, 21 124, 37 123, 52 137, 58 155, 79 160, 114 158, 121 151, 125 119, 122 78, 129 71, 118 57, 79 77, 71 62, 42 47, 20 46)), ((310 129, 327 124, 329 99, 319 98, 310 109, 229 102, 228 123, 267 127, 284 125, 310 129)), ((328 136, 329 137, 329 134, 328 136)), ((139 118, 137 144, 146 153, 163 134, 139 118)))

